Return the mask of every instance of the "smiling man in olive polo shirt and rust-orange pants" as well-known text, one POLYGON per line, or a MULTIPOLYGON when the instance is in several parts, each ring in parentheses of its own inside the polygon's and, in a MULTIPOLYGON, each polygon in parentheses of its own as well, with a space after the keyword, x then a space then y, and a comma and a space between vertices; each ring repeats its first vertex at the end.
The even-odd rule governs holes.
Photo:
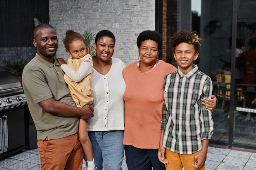
POLYGON ((79 118, 89 121, 93 106, 76 107, 55 59, 56 30, 49 24, 33 32, 36 56, 25 66, 22 83, 34 120, 42 170, 81 170, 83 148, 78 139, 79 118))

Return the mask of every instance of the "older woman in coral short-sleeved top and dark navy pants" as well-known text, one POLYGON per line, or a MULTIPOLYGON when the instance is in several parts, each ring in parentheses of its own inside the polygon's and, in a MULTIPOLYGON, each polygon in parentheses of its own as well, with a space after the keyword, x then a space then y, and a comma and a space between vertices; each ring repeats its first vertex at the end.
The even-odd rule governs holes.
MULTIPOLYGON (((123 71, 127 166, 128 170, 152 170, 152 167, 165 170, 157 157, 164 103, 163 81, 165 75, 177 69, 157 59, 162 46, 162 37, 157 31, 141 32, 137 46, 140 61, 126 66, 123 71)), ((210 110, 216 105, 216 97, 213 98, 203 102, 210 110)))

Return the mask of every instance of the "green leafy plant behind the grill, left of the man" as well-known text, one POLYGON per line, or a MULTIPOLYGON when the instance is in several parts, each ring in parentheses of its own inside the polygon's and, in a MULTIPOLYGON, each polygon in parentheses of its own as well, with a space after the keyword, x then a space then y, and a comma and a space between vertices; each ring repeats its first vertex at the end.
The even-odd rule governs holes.
POLYGON ((17 61, 13 61, 13 60, 9 60, 9 62, 7 62, 7 66, 5 67, 12 75, 14 75, 15 77, 17 76, 21 76, 22 75, 22 71, 25 67, 25 65, 27 64, 27 61, 23 61, 21 60, 17 60, 17 61))

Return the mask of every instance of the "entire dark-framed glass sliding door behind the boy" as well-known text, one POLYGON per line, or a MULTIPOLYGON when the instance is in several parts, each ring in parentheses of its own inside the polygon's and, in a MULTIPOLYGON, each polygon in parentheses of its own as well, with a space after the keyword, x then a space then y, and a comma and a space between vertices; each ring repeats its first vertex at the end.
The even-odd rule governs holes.
MULTIPOLYGON (((255 0, 167 1, 167 40, 185 29, 204 40, 195 64, 217 97, 213 145, 256 149, 255 11, 255 0)), ((170 48, 166 54, 175 65, 170 48)))

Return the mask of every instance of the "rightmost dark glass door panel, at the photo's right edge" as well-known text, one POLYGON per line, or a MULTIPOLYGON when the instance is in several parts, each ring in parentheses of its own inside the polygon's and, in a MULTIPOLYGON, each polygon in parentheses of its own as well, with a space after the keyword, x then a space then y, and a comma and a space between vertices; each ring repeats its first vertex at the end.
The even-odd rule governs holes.
POLYGON ((242 41, 242 53, 236 57, 234 143, 248 145, 255 145, 256 140, 255 9, 255 0, 238 0, 237 38, 242 41))

